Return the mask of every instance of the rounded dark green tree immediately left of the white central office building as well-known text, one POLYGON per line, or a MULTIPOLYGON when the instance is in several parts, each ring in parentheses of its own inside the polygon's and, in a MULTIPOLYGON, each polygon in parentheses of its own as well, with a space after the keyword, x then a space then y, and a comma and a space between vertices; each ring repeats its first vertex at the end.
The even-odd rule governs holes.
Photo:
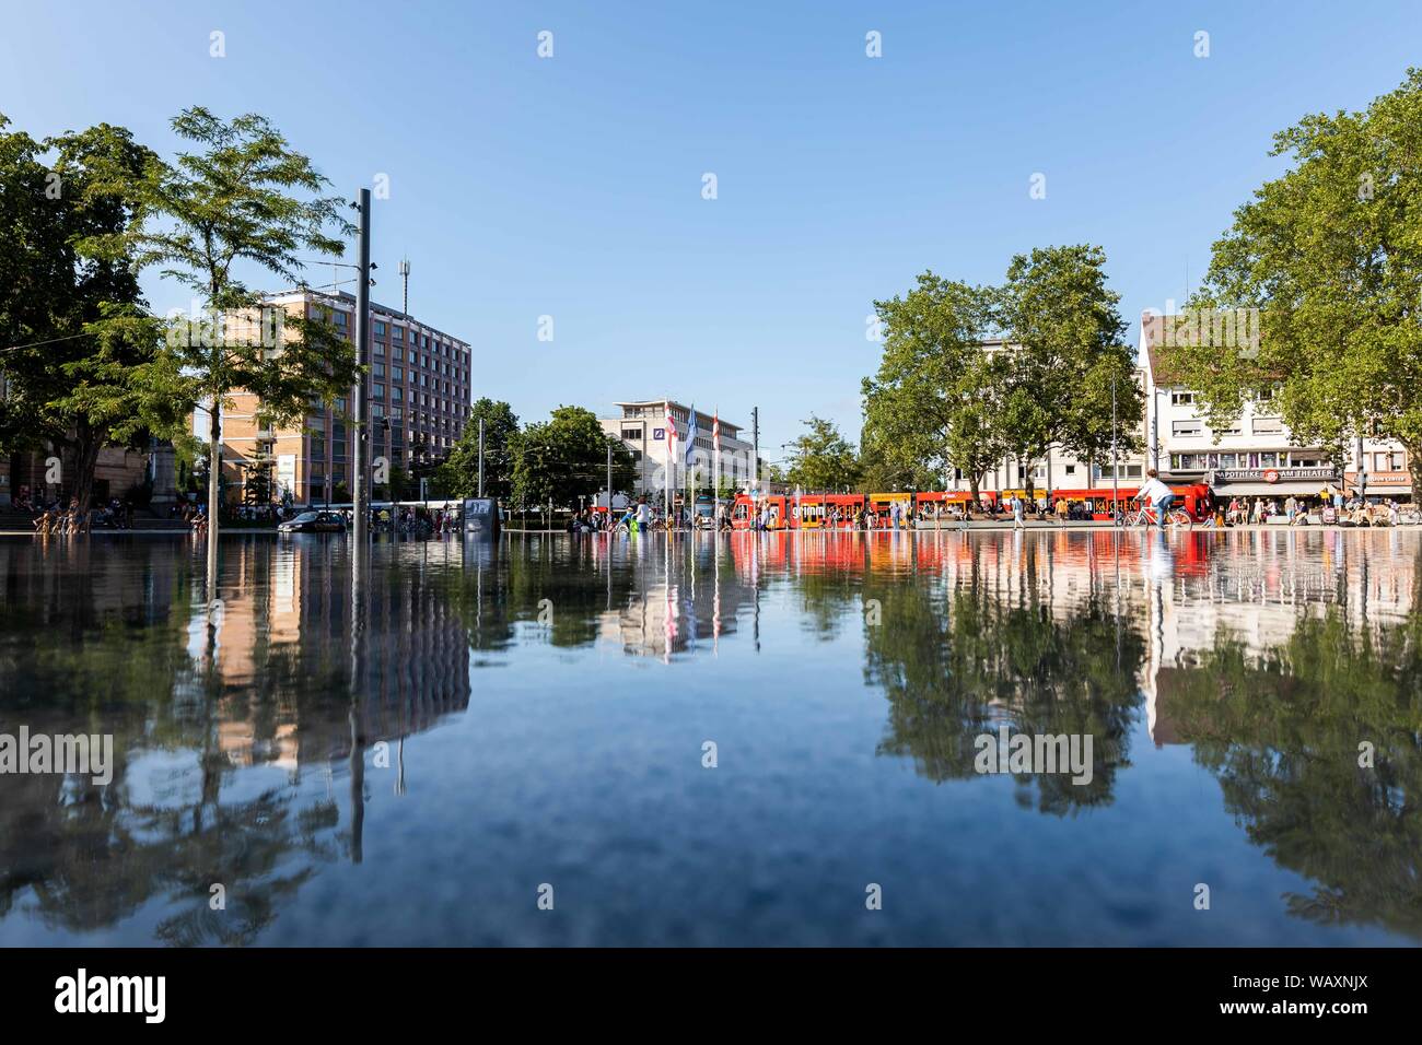
POLYGON ((621 439, 607 435, 590 409, 559 407, 547 421, 529 425, 509 439, 515 503, 576 506, 579 498, 607 483, 609 448, 613 489, 630 491, 636 468, 621 439))

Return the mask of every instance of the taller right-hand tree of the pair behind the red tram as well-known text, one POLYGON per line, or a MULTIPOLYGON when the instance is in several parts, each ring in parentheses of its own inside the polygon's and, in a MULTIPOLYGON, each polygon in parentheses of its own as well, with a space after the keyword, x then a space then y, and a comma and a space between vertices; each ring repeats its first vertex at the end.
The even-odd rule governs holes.
MULTIPOLYGON (((1143 398, 1123 344, 1121 296, 1106 283, 1106 252, 1086 243, 1017 254, 997 291, 998 326, 1015 345, 998 361, 1003 438, 1020 465, 1054 444, 1085 461, 1111 445, 1111 384, 1122 438, 1136 431, 1143 398)), ((1032 496, 1032 472, 1025 469, 1032 496)))

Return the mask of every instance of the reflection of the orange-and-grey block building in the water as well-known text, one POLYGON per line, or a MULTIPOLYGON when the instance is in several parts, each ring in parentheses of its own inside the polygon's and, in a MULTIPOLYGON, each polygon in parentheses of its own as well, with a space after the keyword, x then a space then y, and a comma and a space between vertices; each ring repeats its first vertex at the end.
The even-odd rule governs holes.
MULTIPOLYGON (((444 557, 449 545, 434 549, 444 557)), ((230 547, 226 570, 223 591, 236 594, 213 614, 210 645, 206 621, 198 620, 191 648, 223 682, 220 738, 232 762, 293 769, 327 762, 350 754, 353 714, 368 745, 468 708, 464 621, 418 569, 371 576, 354 643, 340 542, 300 549, 243 542, 230 547)))

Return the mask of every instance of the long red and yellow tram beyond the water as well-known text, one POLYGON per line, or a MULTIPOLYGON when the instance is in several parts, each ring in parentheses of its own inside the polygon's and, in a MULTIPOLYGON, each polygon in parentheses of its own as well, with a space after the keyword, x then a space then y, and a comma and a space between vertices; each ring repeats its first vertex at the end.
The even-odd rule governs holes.
MULTIPOLYGON (((1190 513, 1194 522, 1204 522, 1214 510, 1214 498, 1204 483, 1190 483, 1170 488, 1179 499, 1179 508, 1190 513)), ((1111 522, 1112 503, 1122 515, 1139 508, 1135 483, 1112 491, 1109 486, 1092 486, 1084 489, 1055 489, 1051 492, 1051 503, 1047 503, 1045 491, 1037 491, 1037 499, 1048 509, 1057 503, 1066 502, 1074 508, 1074 518, 1091 519, 1094 522, 1111 522)), ((1027 491, 983 491, 978 503, 971 508, 974 515, 988 506, 994 512, 1003 510, 1008 495, 1025 498, 1027 491)), ((855 529, 856 519, 865 515, 870 529, 882 529, 892 525, 893 506, 899 505, 902 512, 902 526, 907 526, 907 516, 912 513, 917 526, 930 526, 936 522, 950 522, 961 518, 968 510, 971 495, 967 491, 923 491, 916 493, 802 493, 801 496, 776 493, 774 496, 749 498, 739 493, 731 506, 731 527, 737 530, 755 529, 757 512, 765 513, 765 529, 855 529), (838 520, 836 520, 838 513, 838 520)))

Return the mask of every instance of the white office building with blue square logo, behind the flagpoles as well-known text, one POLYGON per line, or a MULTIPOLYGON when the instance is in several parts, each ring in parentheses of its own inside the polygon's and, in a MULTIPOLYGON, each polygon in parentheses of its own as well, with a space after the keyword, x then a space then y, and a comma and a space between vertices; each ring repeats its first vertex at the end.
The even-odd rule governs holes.
MULTIPOLYGON (((715 468, 715 454, 711 441, 712 415, 697 411, 695 442, 688 446, 687 438, 691 429, 691 407, 675 400, 637 400, 634 402, 613 404, 621 412, 620 417, 602 418, 603 431, 619 438, 631 451, 637 463, 636 493, 660 493, 667 482, 675 488, 687 485, 687 463, 695 469, 697 482, 701 486, 711 485, 712 469, 715 468), (673 462, 671 441, 667 432, 667 417, 673 418, 677 429, 675 461, 673 462), (673 475, 670 465, 675 465, 673 475)), ((752 476, 754 444, 741 438, 741 425, 731 424, 721 418, 720 465, 721 481, 734 486, 745 486, 752 476)), ((764 466, 761 468, 764 472, 764 466)))

